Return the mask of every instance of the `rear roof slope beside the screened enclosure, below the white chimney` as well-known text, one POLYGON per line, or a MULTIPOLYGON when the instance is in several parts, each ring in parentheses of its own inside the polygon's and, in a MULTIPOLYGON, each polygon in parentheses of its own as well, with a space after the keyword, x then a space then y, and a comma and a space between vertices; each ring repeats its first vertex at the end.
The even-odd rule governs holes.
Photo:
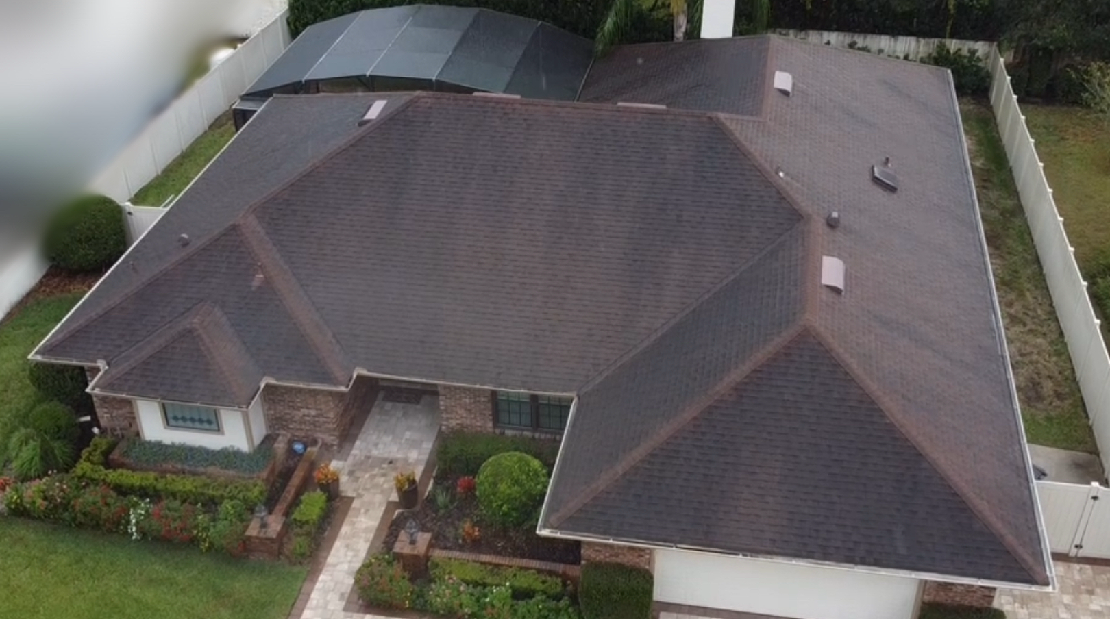
POLYGON ((578 101, 758 116, 773 73, 767 37, 618 45, 594 61, 578 101))

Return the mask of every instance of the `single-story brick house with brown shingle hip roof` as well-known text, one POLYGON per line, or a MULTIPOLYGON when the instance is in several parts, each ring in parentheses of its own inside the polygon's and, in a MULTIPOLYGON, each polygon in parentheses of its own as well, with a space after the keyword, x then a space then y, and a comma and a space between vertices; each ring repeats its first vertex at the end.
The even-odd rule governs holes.
POLYGON ((755 37, 575 102, 276 95, 32 358, 161 440, 335 445, 385 383, 562 434, 539 532, 665 608, 1052 587, 942 69, 755 37))

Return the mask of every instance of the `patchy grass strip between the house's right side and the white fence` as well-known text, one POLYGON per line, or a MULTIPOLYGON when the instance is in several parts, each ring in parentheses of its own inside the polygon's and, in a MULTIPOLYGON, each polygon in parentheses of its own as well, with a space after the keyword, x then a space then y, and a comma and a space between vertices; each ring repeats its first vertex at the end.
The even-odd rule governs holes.
POLYGON ((989 108, 960 106, 1030 443, 1097 453, 1074 368, 989 108))

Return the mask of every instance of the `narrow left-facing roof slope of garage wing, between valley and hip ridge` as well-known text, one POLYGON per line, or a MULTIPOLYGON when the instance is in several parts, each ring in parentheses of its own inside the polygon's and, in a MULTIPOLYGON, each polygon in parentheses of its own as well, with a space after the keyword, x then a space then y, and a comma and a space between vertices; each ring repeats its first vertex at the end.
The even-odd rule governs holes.
POLYGON ((584 503, 781 345, 804 312, 799 224, 579 395, 542 526, 562 529, 584 503))

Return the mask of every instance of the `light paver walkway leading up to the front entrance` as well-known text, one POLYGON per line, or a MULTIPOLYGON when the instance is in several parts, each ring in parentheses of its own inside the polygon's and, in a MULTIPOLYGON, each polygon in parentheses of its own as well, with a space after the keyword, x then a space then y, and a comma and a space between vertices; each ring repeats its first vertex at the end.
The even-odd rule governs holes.
POLYGON ((420 471, 440 428, 440 404, 424 396, 420 404, 382 402, 379 396, 346 460, 334 460, 340 491, 354 498, 339 537, 327 555, 301 619, 366 619, 344 612, 354 575, 370 550, 371 538, 393 497, 393 476, 420 471))

